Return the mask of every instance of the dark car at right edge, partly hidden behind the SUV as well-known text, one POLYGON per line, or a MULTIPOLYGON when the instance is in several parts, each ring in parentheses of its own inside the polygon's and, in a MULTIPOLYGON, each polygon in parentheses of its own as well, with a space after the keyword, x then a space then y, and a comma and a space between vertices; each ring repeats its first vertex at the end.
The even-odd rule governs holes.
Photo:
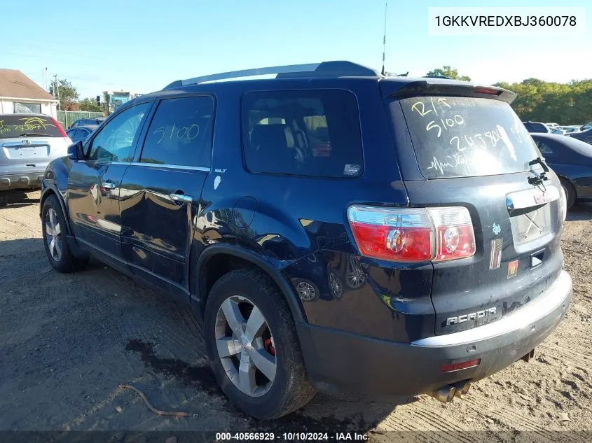
POLYGON ((567 209, 592 200, 592 146, 568 136, 530 134, 555 171, 566 195, 567 209))

